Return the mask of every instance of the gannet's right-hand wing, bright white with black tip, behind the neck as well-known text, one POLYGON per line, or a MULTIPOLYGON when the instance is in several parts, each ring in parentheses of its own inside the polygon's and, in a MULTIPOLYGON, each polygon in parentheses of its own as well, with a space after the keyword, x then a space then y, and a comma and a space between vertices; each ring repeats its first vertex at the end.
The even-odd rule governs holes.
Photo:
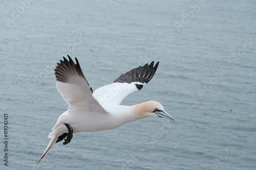
POLYGON ((108 104, 119 105, 123 99, 134 91, 140 90, 155 75, 159 62, 154 66, 145 64, 134 68, 117 78, 114 83, 96 89, 93 96, 104 107, 108 104))

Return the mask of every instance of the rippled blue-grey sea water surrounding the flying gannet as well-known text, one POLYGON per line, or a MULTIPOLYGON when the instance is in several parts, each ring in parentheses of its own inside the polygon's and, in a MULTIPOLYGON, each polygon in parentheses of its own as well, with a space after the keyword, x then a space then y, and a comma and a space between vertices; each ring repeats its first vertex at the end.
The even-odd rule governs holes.
POLYGON ((255 169, 255 9, 255 1, 2 1, 0 169, 255 169), (67 109, 53 70, 67 54, 93 89, 160 61, 122 104, 156 100, 176 121, 77 133, 36 166, 67 109))

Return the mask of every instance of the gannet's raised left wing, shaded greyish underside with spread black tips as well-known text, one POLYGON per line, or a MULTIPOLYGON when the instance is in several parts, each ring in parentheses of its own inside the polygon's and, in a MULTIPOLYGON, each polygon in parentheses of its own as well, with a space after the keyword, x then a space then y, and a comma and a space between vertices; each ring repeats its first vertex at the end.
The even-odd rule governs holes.
POLYGON ((69 112, 102 112, 106 111, 93 97, 93 90, 84 77, 77 58, 76 64, 69 57, 69 61, 63 57, 63 61, 57 63, 55 75, 56 88, 62 98, 69 104, 69 112))

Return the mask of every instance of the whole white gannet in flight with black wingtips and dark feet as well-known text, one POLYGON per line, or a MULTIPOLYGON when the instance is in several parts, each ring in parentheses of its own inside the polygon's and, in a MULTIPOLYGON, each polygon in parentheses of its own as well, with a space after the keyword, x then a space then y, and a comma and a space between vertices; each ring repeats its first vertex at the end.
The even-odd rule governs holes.
POLYGON ((129 94, 140 90, 154 76, 159 62, 154 66, 145 64, 122 74, 114 83, 92 90, 84 77, 77 58, 76 64, 69 57, 57 63, 55 75, 56 88, 62 98, 69 104, 68 110, 62 113, 53 131, 44 154, 37 163, 51 149, 53 144, 63 139, 68 144, 73 133, 95 132, 115 129, 123 124, 145 117, 164 117, 174 120, 156 101, 148 101, 134 106, 122 106, 120 103, 129 94))

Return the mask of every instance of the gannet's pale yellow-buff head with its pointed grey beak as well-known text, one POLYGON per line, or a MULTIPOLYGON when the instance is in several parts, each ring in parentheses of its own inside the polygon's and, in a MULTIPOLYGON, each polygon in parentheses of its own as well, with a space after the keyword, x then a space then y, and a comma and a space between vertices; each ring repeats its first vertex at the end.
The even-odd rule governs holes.
POLYGON ((164 110, 163 106, 159 102, 148 101, 135 106, 135 113, 141 118, 163 117, 174 121, 174 118, 164 110))

